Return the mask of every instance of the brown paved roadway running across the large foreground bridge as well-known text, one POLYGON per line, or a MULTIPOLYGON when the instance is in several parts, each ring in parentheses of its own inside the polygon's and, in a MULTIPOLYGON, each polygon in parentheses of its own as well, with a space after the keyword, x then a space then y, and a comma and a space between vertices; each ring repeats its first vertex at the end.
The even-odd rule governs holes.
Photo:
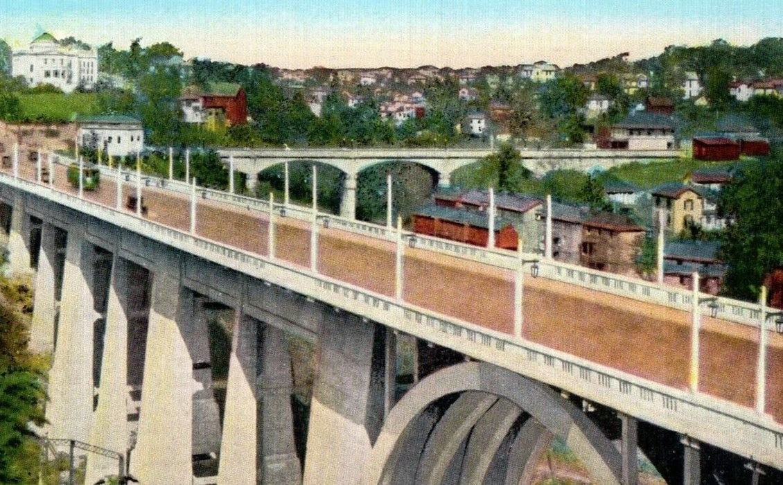
MULTIPOLYGON (((34 179, 35 164, 20 156, 20 175, 34 179)), ((10 168, 2 168, 10 172, 10 168)), ((65 168, 56 188, 72 194, 65 168)), ((114 207, 114 179, 103 179, 92 201, 114 207)), ((126 183, 124 197, 135 194, 126 183)), ((185 194, 144 188, 147 218, 189 230, 185 194)), ((309 225, 276 218, 276 257, 309 267, 309 225)), ((267 215, 199 199, 197 233, 237 248, 268 254, 267 215)), ((333 228, 319 230, 319 272, 384 295, 394 294, 395 245, 333 228)), ((423 249, 405 248, 403 299, 474 324, 513 332, 514 275, 507 270, 423 249)), ((687 389, 691 315, 544 278, 525 278, 523 336, 550 348, 664 385, 687 389)), ((745 407, 755 405, 758 331, 702 318, 699 390, 745 407)), ((770 335, 766 410, 783 423, 783 336, 770 335)))

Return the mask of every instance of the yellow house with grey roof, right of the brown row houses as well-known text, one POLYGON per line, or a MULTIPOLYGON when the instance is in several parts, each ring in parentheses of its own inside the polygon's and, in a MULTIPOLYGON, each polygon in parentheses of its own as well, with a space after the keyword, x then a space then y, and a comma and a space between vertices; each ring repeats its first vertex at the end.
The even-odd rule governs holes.
POLYGON ((660 213, 666 216, 666 230, 680 233, 687 226, 700 224, 704 214, 704 195, 700 187, 684 183, 665 183, 651 192, 655 203, 655 224, 660 213))

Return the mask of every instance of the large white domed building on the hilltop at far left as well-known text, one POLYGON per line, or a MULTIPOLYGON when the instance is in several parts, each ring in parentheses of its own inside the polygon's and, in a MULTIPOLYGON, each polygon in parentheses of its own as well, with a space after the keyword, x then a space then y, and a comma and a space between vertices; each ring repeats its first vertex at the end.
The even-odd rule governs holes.
POLYGON ((98 80, 98 53, 92 47, 63 47, 52 34, 39 35, 27 49, 12 54, 11 75, 27 85, 51 84, 72 92, 77 86, 92 89, 98 80))

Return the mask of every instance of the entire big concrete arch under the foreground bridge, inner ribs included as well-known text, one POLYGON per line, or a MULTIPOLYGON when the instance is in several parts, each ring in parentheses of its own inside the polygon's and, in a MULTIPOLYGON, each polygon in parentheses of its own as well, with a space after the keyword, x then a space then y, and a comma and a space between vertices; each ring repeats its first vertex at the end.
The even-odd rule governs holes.
POLYGON ((514 422, 524 418, 523 414, 529 414, 529 418, 513 437, 514 461, 506 458, 511 465, 504 483, 514 483, 514 480, 518 483, 525 473, 525 465, 539 456, 536 448, 540 450, 540 443, 548 433, 561 436, 583 459, 598 483, 620 483, 619 451, 582 411, 546 385, 480 362, 456 364, 437 371, 402 397, 388 415, 370 452, 365 483, 402 483, 410 476, 420 483, 429 483, 438 473, 449 471, 451 461, 460 452, 471 454, 471 463, 475 464, 463 470, 462 483, 479 476, 484 480, 491 472, 490 463, 503 461, 496 456, 503 436, 514 422), (428 407, 454 394, 459 397, 438 422, 427 423, 428 407), (471 428, 473 433, 491 436, 500 432, 501 436, 489 440, 492 447, 471 449, 470 443, 467 446, 462 443, 471 428))

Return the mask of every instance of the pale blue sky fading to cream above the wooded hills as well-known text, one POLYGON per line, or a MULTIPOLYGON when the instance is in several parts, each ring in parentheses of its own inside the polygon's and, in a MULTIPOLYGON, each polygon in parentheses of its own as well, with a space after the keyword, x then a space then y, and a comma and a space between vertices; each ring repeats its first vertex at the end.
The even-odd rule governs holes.
POLYGON ((781 0, 0 0, 0 38, 48 31, 128 49, 171 42, 275 67, 561 67, 723 38, 783 37, 781 0))

